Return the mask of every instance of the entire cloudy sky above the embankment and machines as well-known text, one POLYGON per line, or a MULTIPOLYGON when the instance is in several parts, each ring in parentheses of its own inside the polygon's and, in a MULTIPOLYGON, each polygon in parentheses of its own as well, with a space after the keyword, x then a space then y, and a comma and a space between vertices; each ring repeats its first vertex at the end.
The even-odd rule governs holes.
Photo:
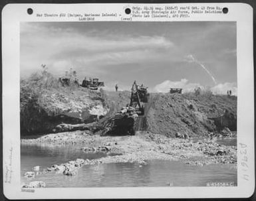
POLYGON ((21 23, 20 41, 22 77, 46 64, 56 76, 72 68, 80 81, 100 78, 107 90, 116 83, 130 89, 137 80, 154 92, 196 86, 236 91, 233 22, 21 23))

